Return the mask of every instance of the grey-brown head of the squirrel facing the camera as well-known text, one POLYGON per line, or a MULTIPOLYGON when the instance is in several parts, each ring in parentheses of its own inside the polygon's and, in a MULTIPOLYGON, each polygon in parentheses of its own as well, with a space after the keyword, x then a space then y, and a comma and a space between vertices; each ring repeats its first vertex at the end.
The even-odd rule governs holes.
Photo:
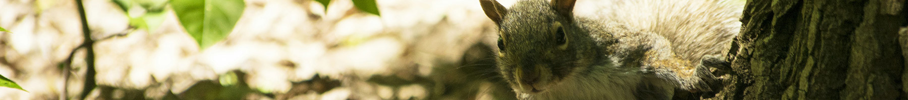
POLYGON ((510 8, 495 0, 479 0, 498 24, 498 69, 518 93, 539 94, 557 87, 580 66, 585 56, 583 34, 572 22, 576 0, 524 0, 510 8))

